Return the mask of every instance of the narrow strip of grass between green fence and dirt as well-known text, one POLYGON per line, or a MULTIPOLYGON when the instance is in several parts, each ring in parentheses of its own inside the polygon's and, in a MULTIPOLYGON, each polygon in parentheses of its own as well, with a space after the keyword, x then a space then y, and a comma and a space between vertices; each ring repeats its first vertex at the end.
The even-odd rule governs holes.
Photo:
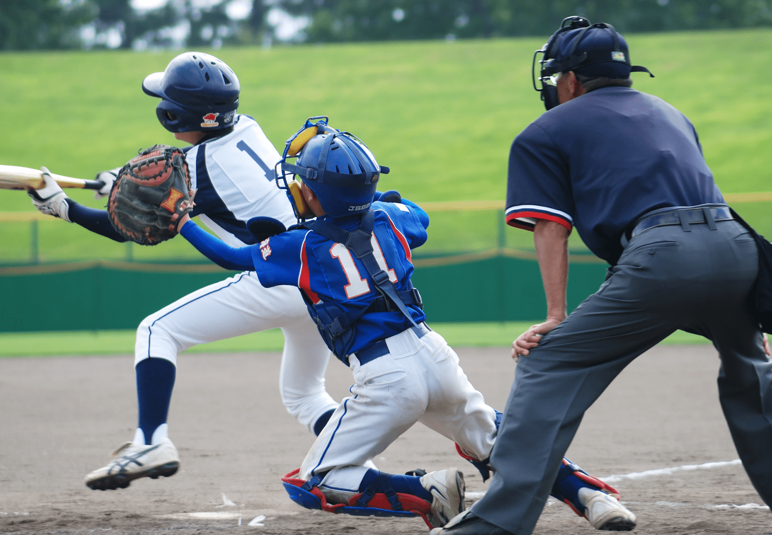
MULTIPOLYGON (((537 322, 432 323, 432 329, 451 347, 510 347, 512 340, 537 322)), ((63 355, 134 354, 134 330, 101 332, 42 332, 0 334, 0 357, 53 357, 63 355)), ((662 344, 709 344, 696 334, 677 330, 662 344)), ((279 329, 219 340, 191 347, 188 353, 244 353, 281 351, 284 337, 279 329)))

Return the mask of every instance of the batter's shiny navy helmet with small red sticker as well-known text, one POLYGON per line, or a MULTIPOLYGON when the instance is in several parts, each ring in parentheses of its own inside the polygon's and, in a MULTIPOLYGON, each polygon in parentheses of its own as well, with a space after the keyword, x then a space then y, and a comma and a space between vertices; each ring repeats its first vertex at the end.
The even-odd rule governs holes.
POLYGON ((161 102, 155 113, 170 132, 219 130, 233 125, 239 79, 225 62, 201 52, 172 59, 163 73, 148 75, 142 90, 161 102))

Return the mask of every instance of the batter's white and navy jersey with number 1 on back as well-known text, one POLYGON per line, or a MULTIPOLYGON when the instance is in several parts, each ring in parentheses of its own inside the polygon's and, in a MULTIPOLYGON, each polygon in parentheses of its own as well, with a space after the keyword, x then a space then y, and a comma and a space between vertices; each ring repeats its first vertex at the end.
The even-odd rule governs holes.
POLYGON ((274 183, 279 153, 249 115, 236 115, 233 131, 187 149, 185 160, 196 189, 191 217, 198 215, 232 247, 255 243, 246 222, 256 215, 296 222, 283 191, 274 183))

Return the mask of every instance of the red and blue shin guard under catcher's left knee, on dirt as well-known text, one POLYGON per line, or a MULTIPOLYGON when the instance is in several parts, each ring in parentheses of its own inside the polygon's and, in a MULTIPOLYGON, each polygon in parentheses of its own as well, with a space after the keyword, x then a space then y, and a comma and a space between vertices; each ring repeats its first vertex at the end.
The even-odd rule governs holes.
POLYGON ((389 483, 391 474, 381 474, 374 479, 364 492, 357 493, 348 503, 327 503, 327 498, 319 489, 321 476, 313 476, 309 481, 298 479, 300 469, 282 477, 284 489, 293 502, 306 509, 319 509, 328 513, 345 513, 354 516, 421 516, 431 530, 427 515, 432 504, 425 499, 411 494, 395 493, 389 483), (379 492, 380 491, 380 492, 379 492))

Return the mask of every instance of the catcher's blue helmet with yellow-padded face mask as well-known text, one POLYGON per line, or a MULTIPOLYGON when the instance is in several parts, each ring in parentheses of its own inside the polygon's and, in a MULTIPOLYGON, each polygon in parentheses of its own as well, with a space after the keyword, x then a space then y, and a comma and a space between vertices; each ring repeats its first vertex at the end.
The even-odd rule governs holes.
POLYGON ((306 124, 286 141, 282 159, 276 164, 276 184, 286 189, 298 218, 313 217, 304 211, 296 194, 298 175, 317 198, 325 214, 332 217, 367 212, 375 195, 378 178, 389 169, 381 167, 367 146, 353 134, 327 126, 328 117, 310 117, 306 124), (314 119, 319 120, 312 123, 314 119), (297 157, 289 164, 288 157, 297 157), (294 186, 294 188, 293 188, 294 186), (300 206, 299 206, 300 204, 300 206))

